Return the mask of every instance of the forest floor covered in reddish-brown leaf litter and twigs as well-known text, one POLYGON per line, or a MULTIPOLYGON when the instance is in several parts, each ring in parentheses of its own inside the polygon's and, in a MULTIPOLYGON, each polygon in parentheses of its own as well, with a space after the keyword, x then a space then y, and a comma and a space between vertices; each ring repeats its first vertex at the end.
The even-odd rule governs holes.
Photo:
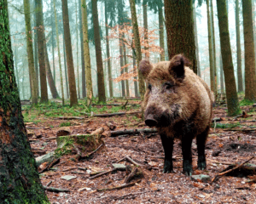
MULTIPOLYGON (((81 102, 80 102, 81 103, 81 102)), ((125 100, 108 102, 125 104, 125 100)), ((139 104, 139 100, 130 100, 128 105, 139 104)), ((130 135, 109 136, 108 122, 114 130, 148 128, 141 115, 124 115, 96 117, 84 116, 84 105, 76 109, 62 108, 53 102, 47 107, 38 106, 30 109, 22 106, 27 133, 35 157, 45 155, 57 148, 56 133, 67 127, 71 135, 88 134, 104 128, 102 139, 104 147, 97 150, 87 159, 78 161, 76 152, 60 157, 59 163, 49 171, 40 173, 44 186, 70 190, 69 192, 46 191, 50 203, 256 203, 256 168, 247 174, 241 171, 225 174, 211 181, 192 180, 182 173, 182 152, 180 141, 176 140, 173 151, 174 173, 163 172, 164 151, 160 136, 156 133, 139 133, 130 135), (60 116, 79 116, 73 120, 63 120, 60 116), (134 166, 125 156, 137 162, 134 166), (122 161, 119 161, 124 159, 122 161), (124 164, 126 171, 114 171, 98 178, 91 179, 90 173, 111 170, 113 163, 124 164), (131 169, 137 167, 137 176, 125 184, 125 177, 131 169), (82 170, 84 169, 84 170, 82 170), (74 176, 71 180, 61 177, 74 176), (109 189, 119 186, 117 189, 109 189), (102 190, 104 189, 104 190, 102 190)), ((130 111, 139 111, 140 106, 131 106, 130 111)), ((207 139, 207 169, 200 171, 196 167, 197 151, 195 139, 192 144, 193 175, 205 174, 214 178, 226 167, 247 161, 256 153, 256 107, 241 106, 247 114, 240 117, 227 116, 225 106, 215 107, 214 117, 221 122, 212 123, 207 139)), ((87 110, 89 111, 89 110, 87 110)), ((96 105, 90 111, 97 113, 122 111, 119 106, 96 105)), ((66 118, 67 119, 67 118, 66 118)), ((69 118, 70 119, 70 118, 69 118)), ((248 163, 256 165, 256 158, 248 163)), ((44 164, 42 164, 44 166, 44 164)), ((39 167, 39 171, 42 166, 39 167)))

